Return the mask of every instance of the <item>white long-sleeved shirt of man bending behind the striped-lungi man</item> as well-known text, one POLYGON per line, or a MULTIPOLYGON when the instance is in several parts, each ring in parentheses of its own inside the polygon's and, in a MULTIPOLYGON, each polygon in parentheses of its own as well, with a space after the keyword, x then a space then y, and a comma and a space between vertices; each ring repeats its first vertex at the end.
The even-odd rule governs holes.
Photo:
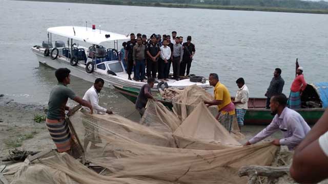
MULTIPOLYGON (((83 100, 88 101, 91 105, 94 111, 96 111, 96 113, 102 113, 102 112, 106 112, 107 109, 104 107, 99 106, 99 93, 96 90, 96 88, 94 88, 94 86, 90 87, 86 93, 83 96, 83 100)), ((90 109, 88 107, 84 107, 85 109, 89 110, 90 109)))

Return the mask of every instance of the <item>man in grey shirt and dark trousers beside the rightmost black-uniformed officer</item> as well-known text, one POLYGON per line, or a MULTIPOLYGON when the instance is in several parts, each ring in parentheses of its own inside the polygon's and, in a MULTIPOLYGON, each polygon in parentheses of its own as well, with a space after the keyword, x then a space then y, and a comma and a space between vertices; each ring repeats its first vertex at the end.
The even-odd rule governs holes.
POLYGON ((179 37, 175 37, 175 44, 173 45, 172 54, 172 67, 173 67, 173 77, 175 80, 179 80, 180 73, 180 63, 182 61, 183 50, 180 44, 179 37))

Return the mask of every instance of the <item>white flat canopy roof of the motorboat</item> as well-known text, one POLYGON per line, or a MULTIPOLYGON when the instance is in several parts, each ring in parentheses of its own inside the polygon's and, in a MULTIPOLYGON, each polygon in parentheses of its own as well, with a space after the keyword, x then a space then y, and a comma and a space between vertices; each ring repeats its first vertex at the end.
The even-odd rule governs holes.
POLYGON ((124 40, 130 38, 129 36, 122 34, 112 33, 99 29, 93 30, 92 28, 78 26, 52 27, 48 28, 47 31, 60 36, 97 45, 105 41, 124 40))

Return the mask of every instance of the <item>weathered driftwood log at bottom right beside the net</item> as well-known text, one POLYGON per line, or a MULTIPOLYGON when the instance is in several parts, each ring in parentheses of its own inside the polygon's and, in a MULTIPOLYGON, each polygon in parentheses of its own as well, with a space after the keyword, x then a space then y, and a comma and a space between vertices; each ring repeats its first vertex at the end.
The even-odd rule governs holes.
POLYGON ((239 177, 248 176, 248 184, 256 183, 257 176, 268 177, 269 183, 271 181, 289 174, 289 166, 284 167, 270 167, 270 166, 243 166, 239 169, 239 177))

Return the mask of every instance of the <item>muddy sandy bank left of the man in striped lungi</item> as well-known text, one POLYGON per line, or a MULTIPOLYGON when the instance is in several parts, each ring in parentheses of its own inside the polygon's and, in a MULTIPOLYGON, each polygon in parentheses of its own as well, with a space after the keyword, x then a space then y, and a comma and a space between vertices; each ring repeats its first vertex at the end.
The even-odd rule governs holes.
POLYGON ((8 156, 8 150, 15 146, 28 151, 54 148, 45 122, 35 123, 33 120, 35 114, 45 115, 45 108, 0 97, 0 160, 8 156))

